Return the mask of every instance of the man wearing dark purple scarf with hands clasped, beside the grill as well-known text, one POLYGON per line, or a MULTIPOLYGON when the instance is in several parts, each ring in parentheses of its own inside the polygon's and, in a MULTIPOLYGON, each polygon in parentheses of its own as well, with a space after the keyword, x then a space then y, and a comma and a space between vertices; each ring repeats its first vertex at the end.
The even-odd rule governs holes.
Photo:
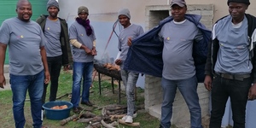
POLYGON ((90 102, 90 84, 92 83, 93 60, 96 55, 96 36, 90 20, 89 10, 80 6, 79 17, 69 27, 70 43, 73 51, 73 112, 79 113, 80 89, 83 79, 81 104, 93 106, 90 102))

